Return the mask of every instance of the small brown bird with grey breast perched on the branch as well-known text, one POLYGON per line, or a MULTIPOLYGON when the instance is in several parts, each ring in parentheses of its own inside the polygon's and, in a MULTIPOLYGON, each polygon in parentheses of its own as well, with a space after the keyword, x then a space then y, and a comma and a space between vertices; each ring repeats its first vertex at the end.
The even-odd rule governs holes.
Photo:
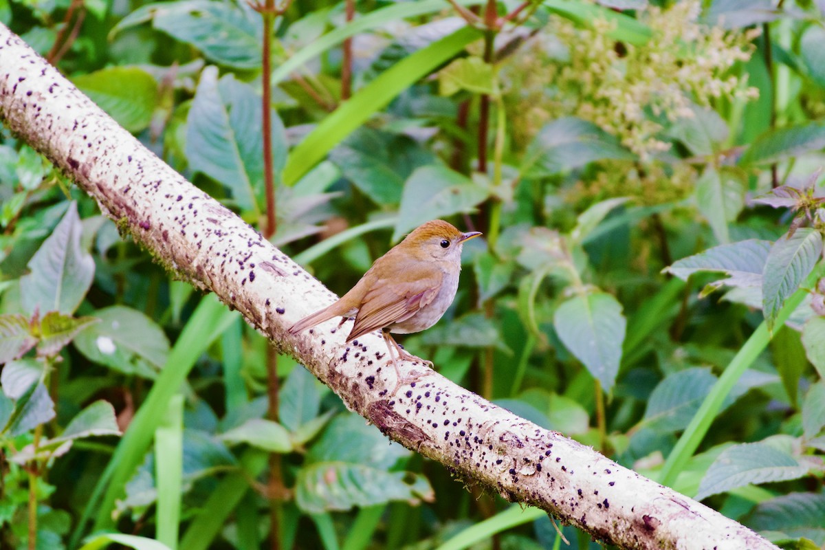
POLYGON ((441 219, 422 224, 376 260, 347 294, 328 308, 296 322, 290 327, 290 334, 297 334, 332 317, 356 317, 347 342, 381 329, 395 367, 397 391, 403 379, 393 348, 398 352, 398 359, 432 363, 403 350, 390 333, 423 331, 441 319, 459 287, 464 241, 480 234, 478 231, 461 233, 441 219))

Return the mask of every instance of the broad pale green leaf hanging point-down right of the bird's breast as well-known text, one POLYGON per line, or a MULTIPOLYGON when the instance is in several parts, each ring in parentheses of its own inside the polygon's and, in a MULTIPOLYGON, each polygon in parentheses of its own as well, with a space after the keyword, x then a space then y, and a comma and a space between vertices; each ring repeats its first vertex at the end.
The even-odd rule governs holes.
POLYGON ((553 317, 559 339, 605 391, 613 388, 619 373, 627 325, 621 310, 611 294, 594 292, 568 299, 553 317))

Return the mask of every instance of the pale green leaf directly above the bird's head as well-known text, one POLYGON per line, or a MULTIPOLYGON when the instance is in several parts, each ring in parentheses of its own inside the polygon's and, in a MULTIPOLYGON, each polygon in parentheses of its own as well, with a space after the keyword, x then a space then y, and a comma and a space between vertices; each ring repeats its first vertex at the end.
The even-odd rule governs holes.
POLYGON ((450 168, 417 168, 404 183, 393 242, 428 220, 472 212, 488 196, 488 190, 450 168))

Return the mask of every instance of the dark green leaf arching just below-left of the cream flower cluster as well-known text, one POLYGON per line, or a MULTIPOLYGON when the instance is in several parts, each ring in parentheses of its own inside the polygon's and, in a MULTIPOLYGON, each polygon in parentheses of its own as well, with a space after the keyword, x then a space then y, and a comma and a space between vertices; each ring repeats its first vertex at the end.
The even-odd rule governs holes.
POLYGON ((573 117, 553 120, 527 147, 521 167, 527 177, 554 176, 608 158, 633 160, 633 153, 603 129, 573 117))

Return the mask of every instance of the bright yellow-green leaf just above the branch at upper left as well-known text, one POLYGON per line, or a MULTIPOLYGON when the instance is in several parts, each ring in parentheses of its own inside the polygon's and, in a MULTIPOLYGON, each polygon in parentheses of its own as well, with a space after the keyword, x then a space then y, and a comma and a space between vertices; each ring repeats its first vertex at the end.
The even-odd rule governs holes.
POLYGON ((133 134, 147 129, 158 106, 158 83, 137 67, 110 67, 73 79, 81 92, 133 134))

